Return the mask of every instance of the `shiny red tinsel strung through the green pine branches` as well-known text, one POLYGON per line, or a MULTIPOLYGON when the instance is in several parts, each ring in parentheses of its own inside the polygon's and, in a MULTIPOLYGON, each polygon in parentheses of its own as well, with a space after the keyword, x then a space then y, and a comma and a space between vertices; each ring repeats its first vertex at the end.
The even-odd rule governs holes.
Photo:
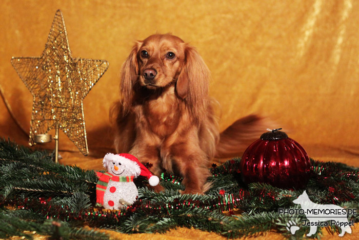
MULTIPOLYGON (((237 174, 239 164, 238 161, 227 162, 219 167, 213 168, 213 175, 221 174, 237 174)), ((312 167, 313 176, 312 179, 316 181, 317 185, 322 184, 326 186, 328 194, 324 202, 344 202, 353 200, 355 196, 351 193, 351 189, 347 186, 345 181, 337 182, 333 178, 328 178, 328 175, 347 175, 345 171, 337 170, 329 172, 328 165, 318 165, 312 167)), ((353 174, 356 176, 356 174, 353 174)), ((182 180, 173 175, 166 173, 163 175, 163 179, 170 180, 172 182, 179 182, 182 180), (177 180, 178 179, 178 180, 177 180)), ((122 216, 127 216, 134 214, 136 212, 143 212, 148 215, 161 215, 161 214, 171 214, 172 211, 176 209, 183 208, 202 208, 208 209, 211 211, 220 210, 220 211, 233 211, 233 209, 241 209, 243 202, 247 199, 258 199, 263 205, 268 204, 268 202, 275 202, 280 198, 289 198, 293 199, 292 195, 281 195, 278 196, 276 190, 267 189, 265 186, 261 188, 255 188, 255 190, 240 189, 235 194, 226 193, 226 190, 219 190, 217 198, 209 199, 207 201, 199 201, 188 198, 184 201, 179 201, 178 198, 173 199, 171 202, 153 202, 150 200, 138 199, 132 206, 127 207, 125 210, 111 211, 105 209, 95 209, 91 208, 86 211, 73 212, 69 209, 68 206, 57 206, 51 202, 50 198, 39 197, 39 198, 30 198, 12 200, 0 200, 0 206, 17 206, 19 209, 31 209, 34 212, 42 214, 47 218, 56 218, 62 220, 82 220, 88 223, 91 226, 91 221, 93 220, 103 220, 108 222, 108 224, 117 224, 119 219, 122 216)))

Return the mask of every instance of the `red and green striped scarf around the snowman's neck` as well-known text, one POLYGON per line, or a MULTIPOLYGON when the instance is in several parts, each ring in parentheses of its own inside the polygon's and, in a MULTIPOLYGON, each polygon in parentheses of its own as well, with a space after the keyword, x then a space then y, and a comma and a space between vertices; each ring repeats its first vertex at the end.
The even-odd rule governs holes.
POLYGON ((113 176, 111 173, 100 173, 95 172, 97 177, 99 178, 96 184, 96 206, 104 205, 104 195, 107 189, 108 182, 118 181, 118 182, 129 182, 133 181, 133 176, 113 176))

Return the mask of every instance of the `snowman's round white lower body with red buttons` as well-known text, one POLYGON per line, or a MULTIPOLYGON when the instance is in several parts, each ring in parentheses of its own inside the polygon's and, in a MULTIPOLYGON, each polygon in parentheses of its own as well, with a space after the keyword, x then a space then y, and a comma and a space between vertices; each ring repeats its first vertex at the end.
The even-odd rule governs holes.
POLYGON ((104 194, 105 209, 120 209, 124 204, 131 205, 136 200, 138 191, 133 181, 118 182, 110 180, 104 194))

